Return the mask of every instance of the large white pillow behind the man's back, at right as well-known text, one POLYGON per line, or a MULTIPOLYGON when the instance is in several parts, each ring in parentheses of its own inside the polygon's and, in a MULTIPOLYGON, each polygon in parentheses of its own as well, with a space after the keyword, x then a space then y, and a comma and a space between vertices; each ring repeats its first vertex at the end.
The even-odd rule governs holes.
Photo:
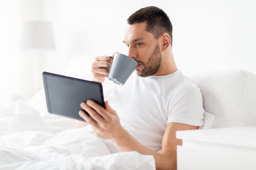
POLYGON ((183 72, 202 93, 203 108, 216 116, 212 128, 256 125, 256 75, 246 70, 183 72))

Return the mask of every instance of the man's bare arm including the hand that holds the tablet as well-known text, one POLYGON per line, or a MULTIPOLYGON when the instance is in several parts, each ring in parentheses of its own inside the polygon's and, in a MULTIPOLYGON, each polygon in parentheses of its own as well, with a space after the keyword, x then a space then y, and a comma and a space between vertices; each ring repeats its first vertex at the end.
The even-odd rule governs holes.
POLYGON ((83 111, 80 111, 79 114, 92 125, 93 133, 97 137, 109 139, 120 152, 137 151, 141 154, 153 155, 157 170, 177 169, 176 146, 181 145, 182 141, 176 139, 176 130, 197 129, 196 126, 182 123, 168 123, 162 141, 162 154, 160 154, 148 149, 131 136, 128 131, 120 125, 119 117, 115 110, 110 108, 108 102, 106 102, 105 105, 106 109, 92 101, 81 103, 81 107, 96 121, 92 120, 83 111))

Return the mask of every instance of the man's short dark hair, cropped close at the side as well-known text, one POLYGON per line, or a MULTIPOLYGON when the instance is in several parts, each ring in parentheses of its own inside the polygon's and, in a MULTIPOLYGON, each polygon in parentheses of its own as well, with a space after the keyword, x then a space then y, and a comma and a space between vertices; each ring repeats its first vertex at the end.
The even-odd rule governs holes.
POLYGON ((142 23, 146 21, 146 31, 152 33, 155 39, 163 33, 171 37, 173 42, 173 26, 167 14, 160 8, 150 6, 137 10, 128 19, 128 24, 142 23))

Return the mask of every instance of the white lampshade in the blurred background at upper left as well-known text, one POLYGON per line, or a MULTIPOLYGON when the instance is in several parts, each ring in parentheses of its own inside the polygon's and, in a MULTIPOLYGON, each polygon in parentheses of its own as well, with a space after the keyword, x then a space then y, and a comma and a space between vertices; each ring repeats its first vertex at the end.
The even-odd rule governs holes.
POLYGON ((47 21, 24 22, 21 49, 55 49, 52 24, 47 21))

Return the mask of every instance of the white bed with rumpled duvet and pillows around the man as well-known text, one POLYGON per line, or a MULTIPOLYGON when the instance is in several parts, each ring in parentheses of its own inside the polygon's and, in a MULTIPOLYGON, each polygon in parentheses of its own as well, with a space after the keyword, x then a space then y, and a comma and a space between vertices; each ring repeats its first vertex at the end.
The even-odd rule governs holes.
MULTIPOLYGON (((62 74, 90 80, 92 60, 74 56, 62 74)), ((206 111, 200 128, 256 125, 255 74, 245 70, 183 73, 201 89, 206 111)), ((155 170, 153 156, 110 154, 90 131, 74 126, 75 120, 47 112, 44 89, 27 102, 1 105, 0 170, 155 170)))

